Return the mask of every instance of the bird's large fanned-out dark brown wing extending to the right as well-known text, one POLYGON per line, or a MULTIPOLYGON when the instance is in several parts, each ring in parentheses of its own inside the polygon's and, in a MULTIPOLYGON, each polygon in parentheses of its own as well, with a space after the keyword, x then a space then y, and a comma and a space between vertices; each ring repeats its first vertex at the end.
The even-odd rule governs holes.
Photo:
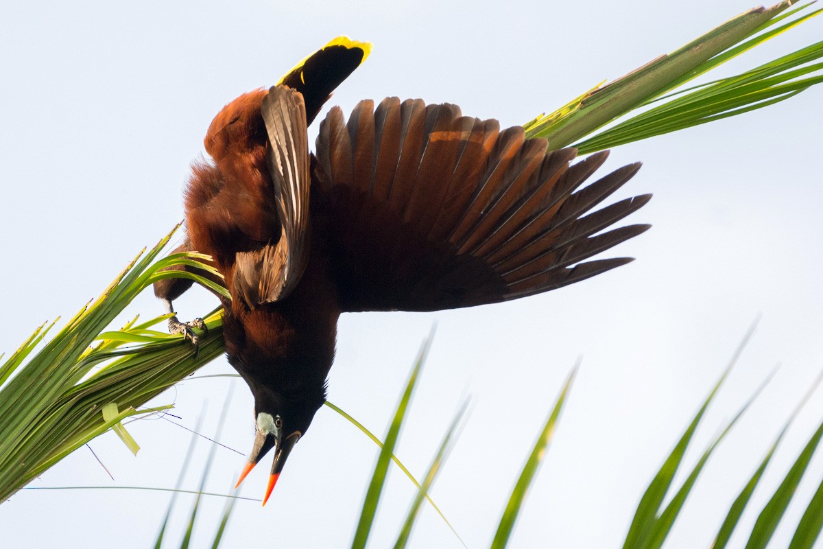
POLYGON ((343 310, 495 303, 630 262, 584 260, 649 228, 599 233, 650 195, 589 213, 639 164, 579 188, 607 152, 570 165, 574 149, 546 147, 455 105, 388 98, 374 111, 362 101, 347 124, 332 109, 317 140, 313 207, 328 220, 343 310))

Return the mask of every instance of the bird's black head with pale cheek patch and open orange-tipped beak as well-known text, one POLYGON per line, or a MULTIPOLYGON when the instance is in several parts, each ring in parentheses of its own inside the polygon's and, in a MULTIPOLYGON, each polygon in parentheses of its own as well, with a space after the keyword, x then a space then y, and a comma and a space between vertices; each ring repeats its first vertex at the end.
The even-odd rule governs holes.
POLYGON ((259 388, 253 393, 255 393, 254 444, 237 486, 243 482, 246 475, 269 450, 274 449, 272 471, 268 477, 266 495, 263 497, 263 505, 266 505, 283 466, 286 464, 286 458, 291 454, 297 441, 309 429, 314 413, 323 406, 325 391, 297 398, 286 398, 281 393, 268 388, 259 388))

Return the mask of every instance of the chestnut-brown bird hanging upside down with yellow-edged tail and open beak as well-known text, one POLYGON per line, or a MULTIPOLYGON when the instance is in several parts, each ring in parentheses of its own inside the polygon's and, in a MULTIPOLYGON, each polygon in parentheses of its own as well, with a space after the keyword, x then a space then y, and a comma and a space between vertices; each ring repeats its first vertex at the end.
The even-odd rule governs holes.
MULTIPOLYGON (((514 300, 593 277, 632 258, 588 260, 649 225, 610 228, 650 194, 595 208, 639 170, 584 183, 599 152, 550 151, 523 128, 456 105, 388 97, 333 107, 307 128, 371 44, 331 40, 275 86, 216 115, 184 190, 187 236, 174 253, 211 257, 226 356, 254 398, 255 436, 239 483, 269 452, 263 505, 323 405, 337 319, 362 311, 435 311, 514 300)), ((188 266, 174 269, 190 270, 188 266)), ((170 331, 197 344, 201 319, 173 301, 192 281, 157 281, 170 331)), ((204 334, 203 337, 206 337, 204 334)))

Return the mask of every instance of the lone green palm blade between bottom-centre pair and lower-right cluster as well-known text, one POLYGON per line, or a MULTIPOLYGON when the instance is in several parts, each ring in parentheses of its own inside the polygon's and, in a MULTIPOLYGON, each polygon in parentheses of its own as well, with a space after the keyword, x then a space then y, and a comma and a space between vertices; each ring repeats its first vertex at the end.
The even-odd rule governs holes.
POLYGON ((502 549, 509 543, 509 536, 511 536, 512 530, 514 529, 514 523, 517 521, 520 508, 523 506, 526 492, 528 491, 528 487, 532 485, 532 480, 534 479, 535 473, 537 473, 537 468, 546 455, 546 447, 551 442, 551 436, 554 435, 555 426, 560 417, 560 411, 563 409, 565 399, 569 394, 571 384, 574 381, 574 375, 577 374, 578 368, 579 362, 574 366, 569 378, 566 379, 563 389, 560 391, 560 396, 557 397, 557 401, 555 402, 555 407, 551 410, 551 414, 549 414, 549 418, 546 420, 540 436, 537 437, 534 448, 532 448, 532 454, 529 455, 526 464, 523 466, 523 471, 520 472, 520 477, 514 485, 514 490, 503 511, 503 516, 500 517, 495 538, 491 542, 491 549, 502 549))

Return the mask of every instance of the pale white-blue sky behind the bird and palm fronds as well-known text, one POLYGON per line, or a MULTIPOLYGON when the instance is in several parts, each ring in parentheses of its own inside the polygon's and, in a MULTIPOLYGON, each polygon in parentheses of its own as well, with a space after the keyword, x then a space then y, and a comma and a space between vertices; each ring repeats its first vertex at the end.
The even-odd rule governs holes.
MULTIPOLYGON (((143 246, 183 218, 181 187, 214 114, 271 85, 333 36, 374 42, 329 105, 348 113, 385 95, 449 101, 463 114, 524 123, 602 79, 753 6, 756 0, 658 2, 3 2, 0 4, 0 350, 46 319, 73 314, 143 246)), ((724 74, 823 36, 811 21, 724 74)), ((487 547, 509 491, 575 359, 584 357, 556 438, 511 547, 616 547, 653 472, 743 333, 751 345, 695 440, 694 463, 723 421, 781 364, 706 468, 667 547, 707 547, 729 503, 821 370, 823 88, 768 109, 612 151, 601 172, 644 168, 615 198, 654 193, 630 222, 648 233, 610 255, 638 261, 560 291, 435 314, 342 317, 329 398, 383 434, 422 339, 430 359, 397 450, 422 476, 459 403, 473 412, 431 491, 468 547, 487 547)), ((321 114, 323 116, 323 114, 321 114)), ((315 129, 316 131, 316 129, 315 129)), ((181 317, 216 305, 205 291, 181 317)), ((148 291, 130 309, 162 313, 148 291)), ((233 373, 224 359, 202 374, 233 373)), ((156 399, 212 435, 230 386, 190 380, 156 399)), ((252 400, 238 380, 221 441, 245 454, 252 400)), ((823 417, 817 393, 756 492, 759 509, 823 417)), ((166 421, 129 426, 78 450, 30 486, 173 487, 189 435, 166 421)), ((208 444, 184 487, 196 490, 208 444)), ((272 500, 240 501, 225 547, 346 547, 377 449, 323 408, 272 500)), ((244 457, 218 449, 208 491, 226 491, 244 457)), ((261 497, 270 458, 244 483, 261 497)), ((784 547, 823 477, 818 456, 779 528, 784 547)), ((397 469, 371 547, 393 543, 414 488, 397 469)), ((21 491, 0 506, 4 547, 148 547, 170 494, 21 491)), ((179 497, 170 547, 190 498, 179 497)), ((210 543, 224 500, 202 502, 195 546, 210 543)), ((752 509, 754 510, 754 509, 752 509)), ((746 514, 747 535, 756 514, 746 514)), ((738 535, 737 546, 742 543, 738 535)), ((424 508, 413 547, 461 547, 424 508)))

